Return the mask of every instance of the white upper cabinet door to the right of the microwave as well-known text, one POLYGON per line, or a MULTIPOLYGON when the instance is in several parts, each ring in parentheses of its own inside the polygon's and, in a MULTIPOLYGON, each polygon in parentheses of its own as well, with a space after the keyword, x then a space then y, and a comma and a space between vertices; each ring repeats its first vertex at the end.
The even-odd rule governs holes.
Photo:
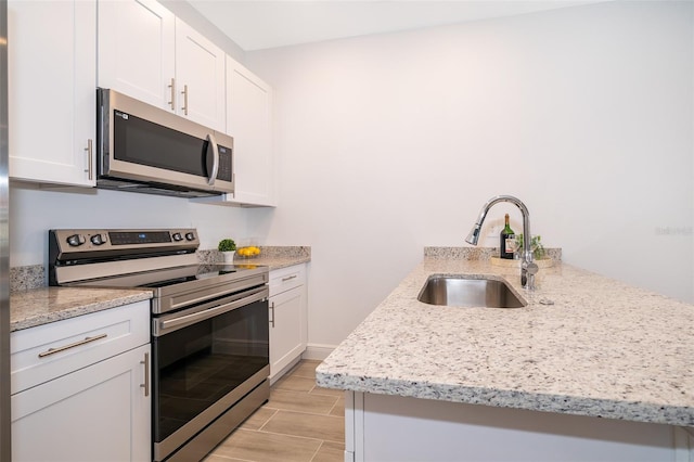
POLYGON ((227 56, 227 133, 234 138, 233 201, 274 205, 272 89, 227 56))

